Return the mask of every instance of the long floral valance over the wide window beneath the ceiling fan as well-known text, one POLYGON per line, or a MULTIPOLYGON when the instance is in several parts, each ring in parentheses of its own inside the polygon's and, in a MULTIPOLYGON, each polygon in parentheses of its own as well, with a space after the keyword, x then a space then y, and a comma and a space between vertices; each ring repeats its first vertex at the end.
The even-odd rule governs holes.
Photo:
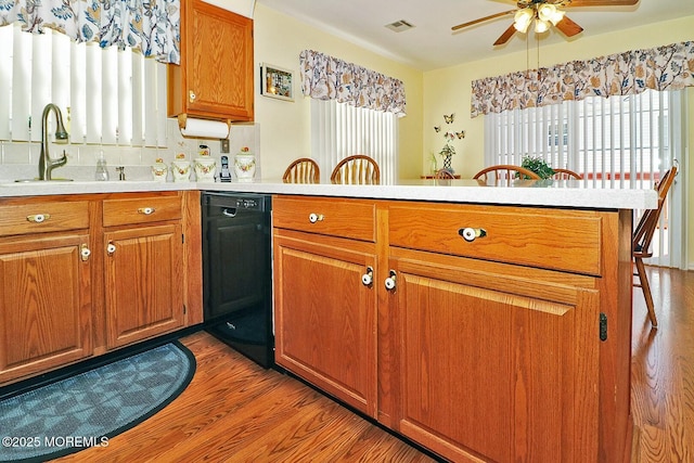
POLYGON ((472 117, 587 97, 694 86, 694 41, 571 61, 473 81, 472 117))

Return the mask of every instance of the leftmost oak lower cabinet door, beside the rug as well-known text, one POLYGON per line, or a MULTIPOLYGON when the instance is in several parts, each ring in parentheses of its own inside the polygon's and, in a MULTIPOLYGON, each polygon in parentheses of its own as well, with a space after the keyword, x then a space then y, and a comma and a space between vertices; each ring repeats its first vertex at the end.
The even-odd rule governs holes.
POLYGON ((0 385, 88 357, 88 234, 0 243, 0 385))

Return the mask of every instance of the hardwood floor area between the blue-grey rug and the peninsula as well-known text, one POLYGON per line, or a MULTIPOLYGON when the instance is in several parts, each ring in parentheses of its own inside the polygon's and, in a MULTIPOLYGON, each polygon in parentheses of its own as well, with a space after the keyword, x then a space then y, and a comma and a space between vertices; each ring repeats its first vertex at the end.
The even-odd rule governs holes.
POLYGON ((432 462, 291 376, 264 370, 207 333, 181 339, 189 387, 144 423, 61 462, 432 462))

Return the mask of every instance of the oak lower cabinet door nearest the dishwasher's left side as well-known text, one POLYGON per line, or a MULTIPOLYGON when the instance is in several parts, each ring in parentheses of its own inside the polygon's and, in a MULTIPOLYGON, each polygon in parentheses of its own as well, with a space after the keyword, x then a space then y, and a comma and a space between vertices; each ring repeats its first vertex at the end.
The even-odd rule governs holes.
POLYGON ((107 347, 183 325, 180 224, 104 233, 107 347))

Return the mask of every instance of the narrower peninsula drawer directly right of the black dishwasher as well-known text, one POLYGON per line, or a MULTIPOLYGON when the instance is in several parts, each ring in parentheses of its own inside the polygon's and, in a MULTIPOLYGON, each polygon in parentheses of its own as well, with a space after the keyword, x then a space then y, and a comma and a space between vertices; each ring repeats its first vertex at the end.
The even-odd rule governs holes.
POLYGON ((340 198, 275 196, 274 227, 375 242, 373 202, 340 198))

